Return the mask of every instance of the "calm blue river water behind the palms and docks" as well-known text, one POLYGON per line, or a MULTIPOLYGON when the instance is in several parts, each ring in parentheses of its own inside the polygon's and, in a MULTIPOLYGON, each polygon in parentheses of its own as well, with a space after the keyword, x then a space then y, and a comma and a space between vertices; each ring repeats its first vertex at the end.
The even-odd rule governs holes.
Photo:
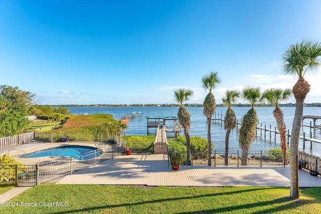
MULTIPOLYGON (((128 129, 126 131, 127 135, 146 135, 147 134, 147 119, 145 116, 177 116, 179 107, 68 107, 69 111, 73 114, 87 113, 87 114, 111 114, 114 118, 120 118, 124 114, 131 114, 132 112, 141 112, 143 115, 141 119, 132 119, 128 123, 128 129)), ((206 117, 203 116, 203 107, 187 107, 188 111, 191 114, 191 136, 201 136, 207 138, 207 126, 206 126, 206 117)), ((216 109, 216 117, 225 116, 226 107, 218 107, 216 109)), ((236 118, 238 121, 241 121, 244 114, 250 109, 250 107, 234 107, 236 118)), ((267 128, 270 127, 274 129, 276 126, 275 119, 273 117, 274 107, 256 107, 259 125, 266 125, 267 128)), ((283 107, 284 120, 287 129, 291 132, 293 117, 295 107, 283 107)), ((320 107, 304 107, 303 115, 318 115, 321 116, 320 107)), ((215 117, 215 116, 213 116, 215 117)), ((312 119, 304 119, 303 123, 309 125, 312 119)), ((316 124, 320 125, 321 120, 316 120, 316 124)), ((240 125, 238 126, 240 128, 240 125)), ((152 129, 149 129, 151 132, 152 129)), ((309 137, 310 128, 304 127, 303 131, 305 136, 309 137)), ((181 133, 184 135, 184 133, 181 133)), ((303 135, 301 133, 301 135, 303 135)), ((316 130, 315 134, 312 130, 312 137, 316 139, 321 139, 321 131, 316 130)), ((214 143, 215 150, 224 150, 225 149, 225 130, 221 123, 212 124, 212 141, 214 143)), ((237 130, 232 130, 230 135, 230 150, 239 150, 238 145, 238 135, 237 130)), ((274 133, 271 133, 271 138, 269 132, 266 133, 264 138, 264 131, 257 130, 256 140, 253 142, 251 150, 267 150, 270 148, 280 148, 280 139, 279 135, 276 135, 274 139, 274 133)), ((303 150, 303 142, 300 140, 299 149, 313 155, 321 156, 321 144, 312 143, 312 149, 310 149, 310 142, 305 142, 305 150, 303 150)))

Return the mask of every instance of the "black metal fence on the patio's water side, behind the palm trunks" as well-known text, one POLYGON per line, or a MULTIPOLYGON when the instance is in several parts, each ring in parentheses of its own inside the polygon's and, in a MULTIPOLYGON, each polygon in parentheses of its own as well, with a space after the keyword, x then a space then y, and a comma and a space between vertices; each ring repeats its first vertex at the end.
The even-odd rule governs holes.
MULTIPOLYGON (((187 160, 186 151, 169 151, 169 156, 174 152, 183 154, 183 165, 208 165, 207 151, 192 151, 191 160, 187 160)), ((249 151, 248 154, 242 151, 228 151, 228 158, 225 160, 225 151, 212 151, 211 165, 216 166, 286 166, 289 164, 289 152, 284 153, 279 149, 268 151, 249 151), (245 158, 246 157, 246 158, 245 158), (245 158, 244 162, 242 158, 245 158), (243 164, 242 164, 243 163, 243 164), (245 164, 244 164, 245 163, 245 164)), ((169 159, 170 166, 170 159, 169 159)))

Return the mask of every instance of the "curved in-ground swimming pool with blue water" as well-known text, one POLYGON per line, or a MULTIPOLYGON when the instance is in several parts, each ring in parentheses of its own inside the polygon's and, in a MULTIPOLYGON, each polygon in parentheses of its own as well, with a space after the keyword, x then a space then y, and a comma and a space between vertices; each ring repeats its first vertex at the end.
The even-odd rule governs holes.
POLYGON ((78 145, 67 145, 59 146, 49 149, 43 149, 40 151, 31 152, 28 154, 21 155, 21 158, 32 158, 32 157, 51 157, 51 156, 69 156, 77 160, 88 160, 94 157, 102 155, 101 149, 91 146, 78 146, 78 145))

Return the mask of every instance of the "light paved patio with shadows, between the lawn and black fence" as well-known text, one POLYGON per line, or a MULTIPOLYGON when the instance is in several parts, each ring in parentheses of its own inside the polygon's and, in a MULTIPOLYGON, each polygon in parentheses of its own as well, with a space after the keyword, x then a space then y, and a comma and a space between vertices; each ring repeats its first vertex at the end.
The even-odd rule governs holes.
MULTIPOLYGON (((166 154, 120 155, 67 175, 57 184, 147 186, 289 186, 289 167, 180 166, 174 171, 166 154)), ((301 187, 321 186, 320 176, 299 170, 301 187)))

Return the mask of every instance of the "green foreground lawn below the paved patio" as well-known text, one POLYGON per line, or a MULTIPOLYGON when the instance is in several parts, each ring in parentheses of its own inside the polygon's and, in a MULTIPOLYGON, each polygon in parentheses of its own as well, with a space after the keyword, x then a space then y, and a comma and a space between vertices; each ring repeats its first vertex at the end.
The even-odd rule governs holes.
POLYGON ((289 197, 288 187, 183 188, 113 185, 35 186, 13 198, 18 207, 0 213, 320 213, 321 187, 289 197), (58 206, 59 202, 68 206, 58 206), (36 207, 22 207, 36 203, 36 207), (53 206, 40 206, 48 203, 53 206), (58 203, 58 205, 57 205, 58 203))

